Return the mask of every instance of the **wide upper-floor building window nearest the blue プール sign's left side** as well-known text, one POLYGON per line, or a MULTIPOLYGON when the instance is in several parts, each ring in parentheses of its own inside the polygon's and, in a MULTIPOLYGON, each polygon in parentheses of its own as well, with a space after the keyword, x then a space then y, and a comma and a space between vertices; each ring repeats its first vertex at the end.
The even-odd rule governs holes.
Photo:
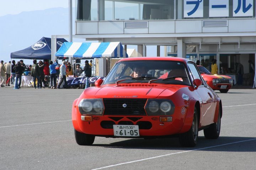
POLYGON ((99 0, 99 20, 174 19, 174 0, 99 0))

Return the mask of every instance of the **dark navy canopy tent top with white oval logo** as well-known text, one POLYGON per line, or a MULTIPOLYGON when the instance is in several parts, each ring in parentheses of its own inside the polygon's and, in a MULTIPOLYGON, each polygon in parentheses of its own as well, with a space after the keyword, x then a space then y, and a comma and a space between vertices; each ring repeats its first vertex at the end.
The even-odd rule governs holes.
MULTIPOLYGON (((57 38, 57 50, 63 45, 64 42, 68 42, 64 38, 57 38)), ((12 52, 11 58, 22 59, 36 59, 36 60, 51 60, 51 38, 43 37, 30 47, 26 49, 12 52)))

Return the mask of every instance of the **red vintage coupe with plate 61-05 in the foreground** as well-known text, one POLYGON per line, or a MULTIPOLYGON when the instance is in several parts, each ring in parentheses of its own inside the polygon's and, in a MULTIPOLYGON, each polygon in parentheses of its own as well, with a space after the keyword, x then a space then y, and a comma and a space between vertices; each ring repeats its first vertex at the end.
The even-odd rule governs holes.
POLYGON ((92 145, 95 136, 179 137, 193 147, 199 130, 219 137, 221 117, 222 101, 196 64, 177 57, 122 59, 72 107, 78 145, 92 145))

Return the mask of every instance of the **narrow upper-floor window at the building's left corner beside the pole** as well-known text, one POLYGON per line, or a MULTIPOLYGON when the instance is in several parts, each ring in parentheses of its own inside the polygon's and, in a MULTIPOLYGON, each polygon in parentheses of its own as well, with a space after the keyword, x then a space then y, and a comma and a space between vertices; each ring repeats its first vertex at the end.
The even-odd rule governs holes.
POLYGON ((76 21, 98 21, 97 0, 76 0, 76 21))

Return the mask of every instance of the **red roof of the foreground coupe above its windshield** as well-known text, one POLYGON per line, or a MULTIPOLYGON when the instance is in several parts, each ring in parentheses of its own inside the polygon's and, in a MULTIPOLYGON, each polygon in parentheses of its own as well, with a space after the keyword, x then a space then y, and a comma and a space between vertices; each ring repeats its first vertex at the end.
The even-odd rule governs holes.
POLYGON ((141 61, 141 60, 154 60, 154 61, 179 61, 186 63, 190 60, 187 60, 186 58, 180 58, 180 57, 132 57, 132 58, 123 58, 119 60, 118 62, 121 61, 141 61))

